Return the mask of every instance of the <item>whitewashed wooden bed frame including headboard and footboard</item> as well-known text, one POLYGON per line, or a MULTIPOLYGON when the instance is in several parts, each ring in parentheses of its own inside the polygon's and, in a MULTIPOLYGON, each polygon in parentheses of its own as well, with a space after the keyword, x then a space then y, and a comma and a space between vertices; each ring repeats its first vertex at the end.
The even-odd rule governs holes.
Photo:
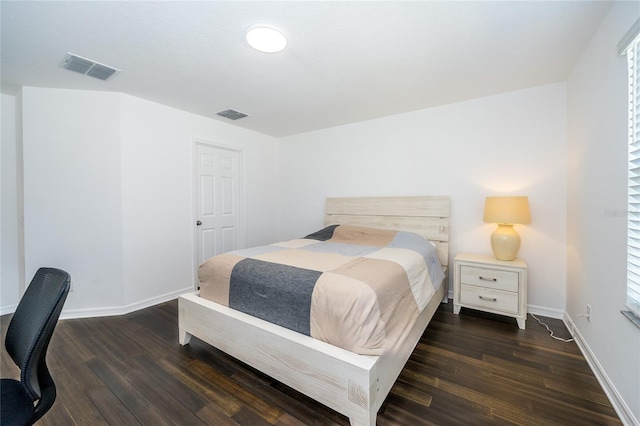
MULTIPOLYGON (((432 241, 448 265, 449 197, 330 198, 325 225, 348 224, 416 232, 432 241)), ((376 415, 440 302, 447 279, 422 311, 399 351, 358 355, 217 303, 198 292, 178 299, 180 344, 191 336, 344 414, 352 426, 374 426, 376 415)))

